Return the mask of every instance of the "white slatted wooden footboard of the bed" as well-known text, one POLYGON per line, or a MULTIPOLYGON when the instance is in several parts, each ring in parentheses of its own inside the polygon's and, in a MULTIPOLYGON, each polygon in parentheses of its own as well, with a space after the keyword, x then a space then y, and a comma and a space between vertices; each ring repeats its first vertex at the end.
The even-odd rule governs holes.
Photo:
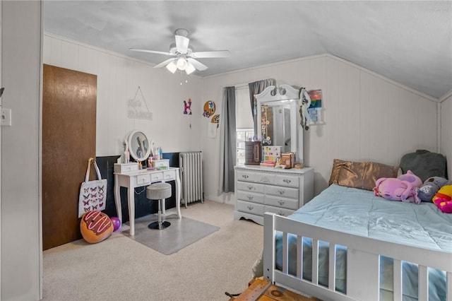
MULTIPOLYGON (((379 300, 379 255, 393 258, 394 299, 402 300, 402 261, 419 266, 419 300, 429 300, 427 267, 446 271, 452 300, 452 254, 319 228, 274 213, 263 220, 263 276, 271 283, 321 300, 379 300), (275 268, 275 232, 283 232, 283 271, 275 268), (297 276, 288 273, 287 233, 297 235, 297 276), (312 281, 302 279, 302 237, 312 239, 312 281), (329 242, 328 288, 319 285, 319 241, 329 242), (335 291, 335 244, 347 247, 347 294, 335 291)), ((452 242, 451 242, 452 243, 452 242)))

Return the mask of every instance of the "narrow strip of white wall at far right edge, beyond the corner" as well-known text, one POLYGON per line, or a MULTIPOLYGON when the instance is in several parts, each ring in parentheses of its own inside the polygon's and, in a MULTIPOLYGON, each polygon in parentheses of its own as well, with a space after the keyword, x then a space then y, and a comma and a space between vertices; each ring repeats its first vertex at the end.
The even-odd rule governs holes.
POLYGON ((452 179, 452 91, 441 98, 439 105, 439 112, 441 112, 441 151, 447 159, 447 175, 452 179))

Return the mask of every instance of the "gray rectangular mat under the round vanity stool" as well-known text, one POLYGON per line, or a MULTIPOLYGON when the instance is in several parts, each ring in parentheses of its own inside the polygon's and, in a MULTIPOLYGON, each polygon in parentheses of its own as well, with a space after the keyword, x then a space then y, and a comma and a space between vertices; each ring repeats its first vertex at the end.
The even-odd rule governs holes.
MULTIPOLYGON (((157 252, 169 255, 220 230, 220 227, 184 216, 182 218, 167 218, 166 220, 171 225, 163 230, 149 229, 148 225, 155 220, 157 220, 157 216, 154 215, 137 218, 135 220, 135 236, 129 236, 129 229, 123 230, 121 234, 155 249, 157 252)), ((128 224, 126 223, 126 225, 128 224)))

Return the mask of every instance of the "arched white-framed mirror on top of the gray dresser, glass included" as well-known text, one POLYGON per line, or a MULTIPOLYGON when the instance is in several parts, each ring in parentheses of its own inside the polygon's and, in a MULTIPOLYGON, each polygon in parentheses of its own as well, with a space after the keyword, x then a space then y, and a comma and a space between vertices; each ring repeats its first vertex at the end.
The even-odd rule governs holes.
POLYGON ((262 146, 280 146, 303 160, 303 133, 298 130, 299 90, 291 85, 270 85, 256 95, 258 137, 262 146))

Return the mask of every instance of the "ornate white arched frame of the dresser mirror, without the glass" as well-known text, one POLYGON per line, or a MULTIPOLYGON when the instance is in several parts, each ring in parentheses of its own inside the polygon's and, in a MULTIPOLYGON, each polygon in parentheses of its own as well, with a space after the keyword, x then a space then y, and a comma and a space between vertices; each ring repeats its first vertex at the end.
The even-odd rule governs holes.
MULTIPOLYGON (((257 124, 258 124, 258 139, 262 139, 262 116, 261 105, 266 102, 280 102, 283 100, 292 100, 293 107, 290 109, 290 139, 291 152, 295 152, 297 162, 303 161, 303 131, 299 129, 299 90, 292 87, 292 85, 269 85, 261 93, 254 95, 257 100, 257 124)), ((285 150, 286 152, 288 150, 285 150)))

